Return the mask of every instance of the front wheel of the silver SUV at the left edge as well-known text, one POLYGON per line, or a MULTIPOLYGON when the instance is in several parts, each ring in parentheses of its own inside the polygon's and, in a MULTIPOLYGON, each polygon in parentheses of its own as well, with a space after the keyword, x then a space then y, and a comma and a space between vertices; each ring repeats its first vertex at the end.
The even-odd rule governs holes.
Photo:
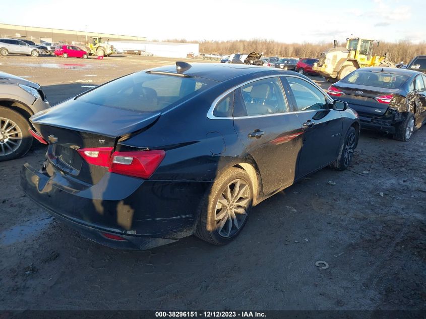
POLYGON ((33 143, 30 124, 20 113, 0 106, 0 162, 24 156, 33 143))

